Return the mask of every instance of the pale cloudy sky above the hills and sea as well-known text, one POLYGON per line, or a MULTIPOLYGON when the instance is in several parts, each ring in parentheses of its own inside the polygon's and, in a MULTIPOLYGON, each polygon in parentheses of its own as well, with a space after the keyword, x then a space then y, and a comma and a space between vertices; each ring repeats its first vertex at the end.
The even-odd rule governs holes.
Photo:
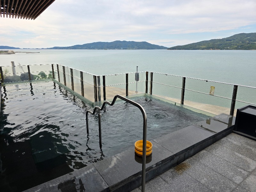
POLYGON ((256 0, 55 0, 35 20, 0 17, 0 45, 115 40, 172 47, 256 32, 256 0))

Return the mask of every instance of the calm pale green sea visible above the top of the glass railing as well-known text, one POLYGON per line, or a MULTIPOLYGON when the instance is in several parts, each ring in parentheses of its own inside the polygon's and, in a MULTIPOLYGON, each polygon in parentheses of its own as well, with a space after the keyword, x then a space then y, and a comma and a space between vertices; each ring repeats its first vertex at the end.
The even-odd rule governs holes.
POLYGON ((58 63, 96 75, 153 71, 256 86, 256 51, 243 50, 17 50, 0 66, 58 63))

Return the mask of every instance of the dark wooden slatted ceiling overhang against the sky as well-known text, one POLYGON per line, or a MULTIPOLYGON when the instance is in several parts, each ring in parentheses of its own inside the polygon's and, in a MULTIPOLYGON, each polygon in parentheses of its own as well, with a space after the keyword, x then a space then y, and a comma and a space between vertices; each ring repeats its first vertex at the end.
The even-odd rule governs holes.
POLYGON ((0 16, 36 19, 55 0, 0 0, 0 16))

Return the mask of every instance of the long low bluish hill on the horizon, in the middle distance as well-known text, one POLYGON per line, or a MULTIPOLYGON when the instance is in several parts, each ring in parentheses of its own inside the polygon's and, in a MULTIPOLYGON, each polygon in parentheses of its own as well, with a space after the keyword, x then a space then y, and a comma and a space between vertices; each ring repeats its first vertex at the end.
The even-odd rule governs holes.
POLYGON ((167 49, 168 47, 150 44, 148 42, 113 41, 95 42, 70 47, 52 47, 47 49, 167 49))

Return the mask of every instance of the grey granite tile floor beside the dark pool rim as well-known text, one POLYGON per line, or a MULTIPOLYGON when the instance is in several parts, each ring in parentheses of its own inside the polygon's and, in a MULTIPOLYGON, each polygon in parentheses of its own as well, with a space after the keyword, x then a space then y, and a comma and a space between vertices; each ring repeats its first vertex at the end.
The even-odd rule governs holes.
POLYGON ((256 141, 231 133, 148 181, 145 191, 256 192, 256 141))

